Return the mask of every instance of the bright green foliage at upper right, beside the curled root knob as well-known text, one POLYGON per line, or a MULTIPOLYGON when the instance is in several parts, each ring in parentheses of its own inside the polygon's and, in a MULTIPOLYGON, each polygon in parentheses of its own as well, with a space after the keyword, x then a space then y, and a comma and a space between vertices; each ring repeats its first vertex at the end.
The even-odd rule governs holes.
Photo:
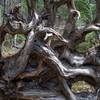
POLYGON ((90 23, 95 17, 96 5, 94 0, 76 0, 76 7, 80 11, 81 17, 77 25, 90 23))

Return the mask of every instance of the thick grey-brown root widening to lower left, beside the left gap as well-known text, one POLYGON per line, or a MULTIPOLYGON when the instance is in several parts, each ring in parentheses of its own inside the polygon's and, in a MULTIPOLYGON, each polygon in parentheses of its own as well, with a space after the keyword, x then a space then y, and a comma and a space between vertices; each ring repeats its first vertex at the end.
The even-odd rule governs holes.
POLYGON ((32 53, 32 44, 34 41, 34 32, 31 31, 28 35, 27 42, 24 47, 14 56, 4 59, 4 76, 7 81, 13 80, 25 70, 32 53))

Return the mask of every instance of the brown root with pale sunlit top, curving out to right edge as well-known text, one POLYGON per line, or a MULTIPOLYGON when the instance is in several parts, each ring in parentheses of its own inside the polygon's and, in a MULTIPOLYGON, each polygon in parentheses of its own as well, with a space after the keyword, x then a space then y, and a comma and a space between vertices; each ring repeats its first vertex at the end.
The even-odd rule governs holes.
POLYGON ((70 44, 74 48, 77 44, 84 41, 85 36, 88 33, 99 30, 100 30, 100 23, 90 24, 85 27, 76 29, 75 32, 71 33, 67 38, 69 38, 70 44))

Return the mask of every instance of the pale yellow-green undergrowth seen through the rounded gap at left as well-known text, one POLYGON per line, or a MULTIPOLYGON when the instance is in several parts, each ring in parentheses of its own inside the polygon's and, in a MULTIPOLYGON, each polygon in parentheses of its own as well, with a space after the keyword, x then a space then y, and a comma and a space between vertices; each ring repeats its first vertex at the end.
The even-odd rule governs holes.
POLYGON ((25 44, 25 37, 23 35, 11 36, 7 34, 5 41, 2 44, 2 56, 8 57, 16 54, 25 44))

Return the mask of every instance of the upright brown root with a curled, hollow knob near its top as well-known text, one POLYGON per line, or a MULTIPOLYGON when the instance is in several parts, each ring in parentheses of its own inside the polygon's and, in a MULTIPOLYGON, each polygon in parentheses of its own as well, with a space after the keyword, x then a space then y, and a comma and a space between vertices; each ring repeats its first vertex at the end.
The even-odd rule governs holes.
POLYGON ((65 24, 63 36, 67 39, 68 35, 76 29, 76 20, 80 17, 80 12, 75 7, 74 0, 67 0, 69 16, 65 24))

